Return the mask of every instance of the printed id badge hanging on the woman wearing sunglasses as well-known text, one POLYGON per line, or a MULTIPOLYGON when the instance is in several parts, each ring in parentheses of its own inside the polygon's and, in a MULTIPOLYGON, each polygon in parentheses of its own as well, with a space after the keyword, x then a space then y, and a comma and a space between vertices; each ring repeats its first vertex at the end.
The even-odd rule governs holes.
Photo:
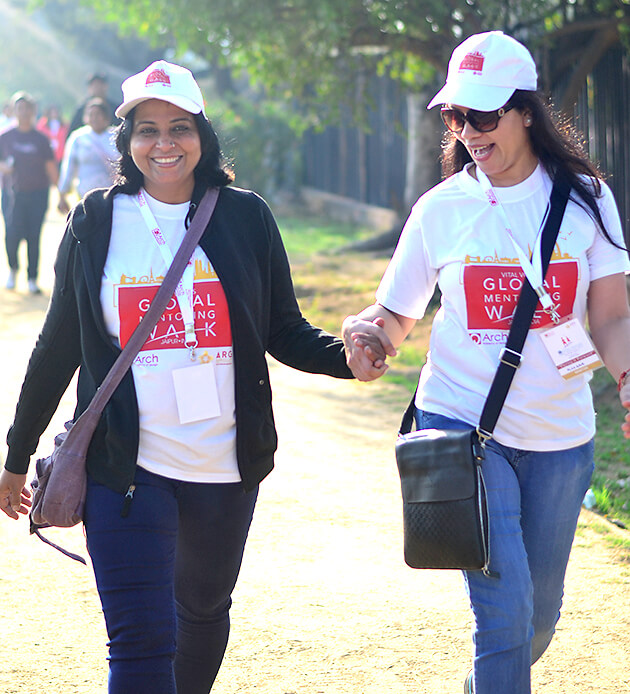
POLYGON ((554 325, 540 338, 562 378, 569 379, 604 366, 595 345, 577 318, 554 325))

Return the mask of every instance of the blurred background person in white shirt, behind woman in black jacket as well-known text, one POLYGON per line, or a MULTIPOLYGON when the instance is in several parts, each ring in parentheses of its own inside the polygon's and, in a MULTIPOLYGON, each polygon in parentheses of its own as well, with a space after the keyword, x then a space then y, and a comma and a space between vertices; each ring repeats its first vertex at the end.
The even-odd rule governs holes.
POLYGON ((80 197, 95 188, 109 188, 120 157, 103 99, 95 97, 87 102, 84 120, 85 125, 68 138, 61 163, 58 209, 62 214, 70 210, 67 195, 73 187, 80 197))

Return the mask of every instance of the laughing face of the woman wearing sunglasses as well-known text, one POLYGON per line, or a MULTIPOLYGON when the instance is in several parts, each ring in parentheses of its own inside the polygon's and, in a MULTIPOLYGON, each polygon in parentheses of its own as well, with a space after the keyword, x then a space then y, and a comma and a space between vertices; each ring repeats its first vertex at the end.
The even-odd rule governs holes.
MULTIPOLYGON (((456 108, 468 112, 465 107, 456 108)), ((513 186, 530 176, 538 164, 529 125, 531 115, 513 108, 499 119, 496 130, 482 133, 465 123, 456 137, 493 186, 513 186)))

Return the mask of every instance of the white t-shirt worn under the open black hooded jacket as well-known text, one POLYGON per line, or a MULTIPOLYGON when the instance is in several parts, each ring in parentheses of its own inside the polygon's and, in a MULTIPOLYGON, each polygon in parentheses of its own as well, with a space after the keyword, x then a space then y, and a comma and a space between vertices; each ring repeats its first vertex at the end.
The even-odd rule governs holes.
MULTIPOLYGON (((134 198, 117 195, 114 199, 112 237, 101 286, 107 329, 123 346, 167 270, 134 198)), ((188 203, 169 205, 146 192, 145 198, 174 256, 185 234, 188 203)), ((183 320, 173 298, 132 366, 140 413, 138 465, 190 482, 238 482, 232 331, 227 302, 199 246, 193 262, 193 309, 199 342, 195 362, 191 362, 184 346, 183 320), (214 370, 220 415, 182 424, 173 371, 199 364, 214 370)), ((197 396, 199 393, 190 392, 190 397, 197 396)), ((202 396, 206 397, 205 386, 202 396)))

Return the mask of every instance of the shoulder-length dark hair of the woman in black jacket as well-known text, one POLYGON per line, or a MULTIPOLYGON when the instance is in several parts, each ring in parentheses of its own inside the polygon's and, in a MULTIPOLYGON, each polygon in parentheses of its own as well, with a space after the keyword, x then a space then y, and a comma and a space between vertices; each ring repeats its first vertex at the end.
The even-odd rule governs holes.
MULTIPOLYGON (((116 163, 115 182, 120 186, 121 192, 127 194, 137 193, 144 183, 144 176, 130 154, 135 114, 136 109, 133 108, 116 129, 116 148, 120 152, 120 159, 116 163)), ((203 112, 192 116, 201 140, 201 159, 194 170, 195 183, 207 187, 229 186, 234 181, 234 174, 224 162, 219 138, 212 123, 203 112)))

